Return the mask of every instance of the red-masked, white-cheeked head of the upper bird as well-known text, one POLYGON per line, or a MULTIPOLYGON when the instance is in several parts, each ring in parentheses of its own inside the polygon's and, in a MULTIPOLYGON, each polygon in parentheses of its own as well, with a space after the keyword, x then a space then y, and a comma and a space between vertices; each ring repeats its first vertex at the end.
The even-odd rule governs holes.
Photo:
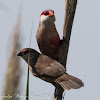
POLYGON ((41 13, 40 22, 42 23, 54 23, 55 15, 53 10, 45 10, 41 13))

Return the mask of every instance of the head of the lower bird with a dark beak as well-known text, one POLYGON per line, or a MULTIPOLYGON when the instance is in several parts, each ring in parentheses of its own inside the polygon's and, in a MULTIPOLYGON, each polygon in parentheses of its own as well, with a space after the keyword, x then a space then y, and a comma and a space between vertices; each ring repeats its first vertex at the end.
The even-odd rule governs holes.
POLYGON ((18 52, 17 56, 22 57, 28 63, 28 59, 30 61, 36 60, 39 57, 39 53, 34 49, 25 48, 25 49, 22 49, 20 52, 18 52))

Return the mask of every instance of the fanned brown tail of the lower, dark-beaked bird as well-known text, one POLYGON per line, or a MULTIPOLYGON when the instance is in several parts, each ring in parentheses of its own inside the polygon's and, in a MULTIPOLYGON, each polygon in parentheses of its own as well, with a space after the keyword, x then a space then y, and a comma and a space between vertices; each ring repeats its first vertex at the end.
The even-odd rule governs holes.
POLYGON ((55 82, 61 85, 64 90, 79 89, 84 86, 84 83, 80 79, 68 74, 63 74, 55 82))

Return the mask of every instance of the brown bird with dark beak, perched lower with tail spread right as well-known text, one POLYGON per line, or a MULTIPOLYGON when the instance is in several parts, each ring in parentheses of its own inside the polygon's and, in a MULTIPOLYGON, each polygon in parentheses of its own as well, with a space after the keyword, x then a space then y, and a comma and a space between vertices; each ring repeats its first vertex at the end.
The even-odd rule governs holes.
POLYGON ((54 86, 59 84, 64 90, 78 89, 84 86, 84 83, 80 79, 68 75, 63 65, 59 62, 38 53, 34 49, 22 49, 17 56, 21 56, 26 63, 29 63, 29 69, 34 76, 52 83, 54 86))

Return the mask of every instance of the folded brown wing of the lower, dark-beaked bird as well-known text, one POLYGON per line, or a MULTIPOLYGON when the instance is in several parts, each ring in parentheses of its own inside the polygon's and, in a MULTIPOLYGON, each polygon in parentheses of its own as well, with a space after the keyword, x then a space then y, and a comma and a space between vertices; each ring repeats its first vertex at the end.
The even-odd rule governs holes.
POLYGON ((35 69, 39 75, 59 77, 65 73, 65 68, 59 62, 48 56, 40 55, 37 62, 35 69))

